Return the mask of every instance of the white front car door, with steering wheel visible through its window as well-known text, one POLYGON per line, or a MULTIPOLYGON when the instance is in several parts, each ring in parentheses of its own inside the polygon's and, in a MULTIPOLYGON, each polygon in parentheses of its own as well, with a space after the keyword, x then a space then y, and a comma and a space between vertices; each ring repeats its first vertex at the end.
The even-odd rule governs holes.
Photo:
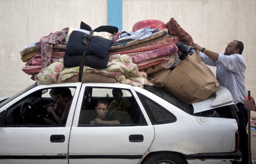
MULTIPOLYGON (((0 113, 6 113, 4 124, 0 127, 0 164, 68 164, 68 141, 80 88, 81 83, 39 85, 0 108, 0 113), (73 91, 73 100, 63 125, 16 123, 14 111, 20 110, 22 103, 28 101, 39 110, 41 100, 44 99, 45 103, 48 98, 45 95, 40 97, 38 93, 49 92, 56 87, 68 87, 73 91)), ((37 115, 39 117, 41 115, 37 115)))

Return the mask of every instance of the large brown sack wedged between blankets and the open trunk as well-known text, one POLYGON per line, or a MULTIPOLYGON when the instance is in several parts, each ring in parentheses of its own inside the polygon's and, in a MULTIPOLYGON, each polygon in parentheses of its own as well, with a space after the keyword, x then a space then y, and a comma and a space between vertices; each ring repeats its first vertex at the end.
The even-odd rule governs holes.
POLYGON ((207 99, 219 87, 219 82, 195 50, 165 78, 162 86, 165 91, 190 104, 207 99))

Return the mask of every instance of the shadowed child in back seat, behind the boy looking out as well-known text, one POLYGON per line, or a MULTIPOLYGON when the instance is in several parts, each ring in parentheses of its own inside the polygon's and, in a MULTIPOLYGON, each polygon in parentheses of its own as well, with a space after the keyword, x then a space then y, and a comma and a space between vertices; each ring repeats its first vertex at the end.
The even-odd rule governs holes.
POLYGON ((110 105, 109 105, 110 110, 129 112, 132 109, 132 105, 130 101, 126 98, 122 98, 123 92, 121 89, 114 88, 112 90, 112 95, 113 95, 114 101, 110 102, 110 105))

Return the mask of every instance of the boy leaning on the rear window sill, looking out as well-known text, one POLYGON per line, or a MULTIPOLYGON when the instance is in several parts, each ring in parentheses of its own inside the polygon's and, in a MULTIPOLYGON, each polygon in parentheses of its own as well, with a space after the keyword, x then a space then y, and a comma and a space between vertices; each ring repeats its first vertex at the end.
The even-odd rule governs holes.
POLYGON ((109 101, 106 98, 99 99, 95 106, 97 117, 90 124, 120 124, 119 120, 108 113, 108 106, 109 101))

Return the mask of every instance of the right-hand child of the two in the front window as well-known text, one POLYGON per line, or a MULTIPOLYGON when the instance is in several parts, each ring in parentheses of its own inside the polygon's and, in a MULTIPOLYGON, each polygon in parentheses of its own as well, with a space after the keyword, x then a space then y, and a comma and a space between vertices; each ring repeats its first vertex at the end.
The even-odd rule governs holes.
POLYGON ((56 120, 59 124, 63 124, 64 121, 65 121, 66 118, 67 118, 67 114, 68 114, 69 107, 70 107, 71 101, 72 101, 72 99, 73 99, 73 96, 72 96, 72 93, 71 93, 71 91, 70 91, 69 88, 61 88, 61 89, 58 89, 57 93, 58 93, 59 99, 60 99, 62 102, 65 102, 65 103, 66 103, 66 106, 65 106, 64 112, 63 112, 63 114, 62 114, 62 117, 59 117, 59 116, 57 115, 57 113, 55 112, 55 109, 54 109, 53 107, 48 107, 48 108, 47 108, 47 111, 53 114, 55 120, 56 120))

